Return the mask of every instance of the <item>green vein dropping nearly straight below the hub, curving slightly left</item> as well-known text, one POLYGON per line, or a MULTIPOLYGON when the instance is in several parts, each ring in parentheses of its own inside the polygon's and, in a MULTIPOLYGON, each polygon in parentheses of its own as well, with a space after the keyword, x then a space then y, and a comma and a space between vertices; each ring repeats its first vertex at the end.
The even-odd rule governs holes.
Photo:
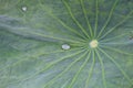
POLYGON ((95 53, 94 53, 94 51, 92 52, 92 54, 93 54, 93 62, 92 62, 91 68, 89 70, 89 76, 86 78, 85 87, 84 88, 89 88, 89 81, 91 79, 91 76, 92 76, 92 73, 93 73, 93 68, 94 68, 94 64, 95 64, 95 53))

